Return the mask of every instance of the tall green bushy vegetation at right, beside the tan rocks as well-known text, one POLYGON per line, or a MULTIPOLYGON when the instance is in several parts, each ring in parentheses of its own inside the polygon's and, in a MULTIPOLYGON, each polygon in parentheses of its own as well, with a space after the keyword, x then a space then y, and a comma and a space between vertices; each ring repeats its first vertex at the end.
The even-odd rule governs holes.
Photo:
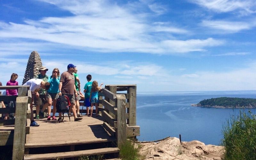
POLYGON ((225 160, 256 159, 256 115, 241 112, 223 124, 225 160))

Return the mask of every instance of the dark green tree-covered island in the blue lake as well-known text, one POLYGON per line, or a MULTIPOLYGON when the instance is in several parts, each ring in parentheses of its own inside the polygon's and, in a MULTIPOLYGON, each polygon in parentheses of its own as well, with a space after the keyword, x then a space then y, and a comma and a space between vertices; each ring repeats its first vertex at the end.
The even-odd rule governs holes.
POLYGON ((256 108, 256 99, 220 97, 201 100, 197 104, 191 104, 191 106, 216 108, 256 108))

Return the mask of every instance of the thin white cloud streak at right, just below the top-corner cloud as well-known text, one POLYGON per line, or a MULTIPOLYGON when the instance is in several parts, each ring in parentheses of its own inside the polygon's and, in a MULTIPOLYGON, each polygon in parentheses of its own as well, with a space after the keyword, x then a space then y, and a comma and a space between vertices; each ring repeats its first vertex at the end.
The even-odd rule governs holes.
POLYGON ((255 23, 236 22, 236 21, 223 21, 223 20, 204 20, 202 26, 224 30, 223 33, 234 33, 241 30, 248 30, 255 26, 255 23))

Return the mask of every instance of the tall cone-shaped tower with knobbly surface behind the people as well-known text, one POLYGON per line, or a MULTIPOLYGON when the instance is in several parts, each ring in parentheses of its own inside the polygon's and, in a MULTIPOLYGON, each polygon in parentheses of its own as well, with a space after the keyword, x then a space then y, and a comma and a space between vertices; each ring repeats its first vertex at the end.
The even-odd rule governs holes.
POLYGON ((28 64, 23 78, 22 85, 29 79, 35 78, 39 74, 39 68, 42 67, 42 60, 38 52, 31 52, 28 58, 28 64))

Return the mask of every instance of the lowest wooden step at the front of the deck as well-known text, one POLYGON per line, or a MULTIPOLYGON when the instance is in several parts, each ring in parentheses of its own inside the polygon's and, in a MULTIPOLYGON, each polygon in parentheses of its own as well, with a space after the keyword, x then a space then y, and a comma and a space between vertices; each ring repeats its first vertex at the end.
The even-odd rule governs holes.
POLYGON ((24 160, 72 158, 72 157, 91 156, 91 155, 100 155, 100 154, 118 153, 118 152, 119 152, 118 148, 99 148, 99 149, 71 151, 71 152, 24 155, 24 160))

